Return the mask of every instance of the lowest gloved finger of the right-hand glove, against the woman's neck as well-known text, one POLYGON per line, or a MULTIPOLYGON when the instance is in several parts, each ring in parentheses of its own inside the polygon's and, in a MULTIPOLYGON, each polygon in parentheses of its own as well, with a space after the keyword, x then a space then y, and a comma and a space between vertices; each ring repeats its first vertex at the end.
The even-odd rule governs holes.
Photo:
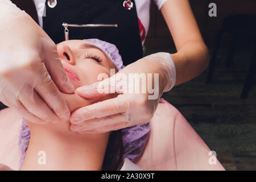
POLYGON ((97 127, 105 127, 110 125, 116 125, 118 123, 124 123, 126 126, 129 125, 129 117, 127 114, 118 113, 114 115, 109 115, 104 118, 94 118, 88 121, 79 123, 78 125, 71 125, 72 131, 84 131, 91 130, 97 127))

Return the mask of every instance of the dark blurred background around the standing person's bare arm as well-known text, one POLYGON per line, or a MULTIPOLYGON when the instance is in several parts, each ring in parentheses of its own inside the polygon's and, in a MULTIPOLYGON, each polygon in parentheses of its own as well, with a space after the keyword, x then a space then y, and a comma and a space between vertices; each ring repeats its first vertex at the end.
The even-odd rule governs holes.
MULTIPOLYGON (((256 1, 189 2, 210 51, 209 68, 163 97, 217 152, 226 169, 256 170, 256 1), (208 15, 209 3, 216 3, 217 17, 208 15)), ((154 4, 145 46, 146 55, 176 51, 154 4)), ((0 103, 0 109, 4 107, 0 103)))

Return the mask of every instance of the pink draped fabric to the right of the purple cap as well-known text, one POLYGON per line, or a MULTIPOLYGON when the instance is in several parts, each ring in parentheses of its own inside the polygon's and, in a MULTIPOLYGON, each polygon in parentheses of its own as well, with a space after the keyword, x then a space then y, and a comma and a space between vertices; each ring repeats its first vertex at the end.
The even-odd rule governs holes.
POLYGON ((150 121, 141 158, 143 170, 225 170, 183 115, 164 99, 150 121))

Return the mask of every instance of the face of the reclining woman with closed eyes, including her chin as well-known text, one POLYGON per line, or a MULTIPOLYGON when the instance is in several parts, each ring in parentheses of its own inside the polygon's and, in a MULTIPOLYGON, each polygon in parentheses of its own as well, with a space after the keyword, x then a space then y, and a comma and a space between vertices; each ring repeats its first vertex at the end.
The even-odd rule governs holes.
MULTIPOLYGON (((75 89, 100 81, 97 80, 100 73, 106 73, 110 76, 110 68, 115 68, 105 52, 93 43, 84 40, 61 42, 57 44, 57 53, 75 89)), ((71 111, 96 102, 96 100, 85 100, 76 94, 61 94, 63 94, 64 100, 71 111)), ((110 97, 104 97, 100 100, 106 100, 110 97)), ((100 100, 97 99, 97 101, 100 100)))

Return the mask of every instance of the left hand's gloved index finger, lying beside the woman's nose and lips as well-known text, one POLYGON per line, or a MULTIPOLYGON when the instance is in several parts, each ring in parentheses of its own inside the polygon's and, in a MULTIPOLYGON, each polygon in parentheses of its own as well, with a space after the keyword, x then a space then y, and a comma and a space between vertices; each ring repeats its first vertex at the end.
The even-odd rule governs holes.
POLYGON ((65 93, 73 93, 74 87, 69 81, 59 60, 56 45, 44 38, 41 38, 40 40, 42 60, 44 61, 44 65, 46 66, 49 75, 51 75, 52 80, 61 91, 65 93))

